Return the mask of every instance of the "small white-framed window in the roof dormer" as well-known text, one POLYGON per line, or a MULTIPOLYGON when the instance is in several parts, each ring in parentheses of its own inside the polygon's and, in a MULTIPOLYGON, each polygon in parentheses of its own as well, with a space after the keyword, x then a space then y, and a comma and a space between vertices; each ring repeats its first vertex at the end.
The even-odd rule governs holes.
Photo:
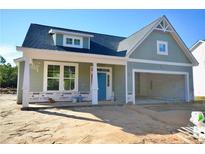
POLYGON ((64 35, 63 45, 68 47, 78 47, 82 48, 82 38, 77 36, 64 35))

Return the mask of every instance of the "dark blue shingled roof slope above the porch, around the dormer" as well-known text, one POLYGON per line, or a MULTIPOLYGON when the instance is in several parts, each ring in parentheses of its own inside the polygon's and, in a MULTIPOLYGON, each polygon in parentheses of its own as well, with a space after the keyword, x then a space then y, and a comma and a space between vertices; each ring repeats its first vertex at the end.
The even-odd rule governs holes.
POLYGON ((31 24, 22 47, 124 57, 126 55, 126 51, 117 52, 118 44, 123 39, 125 39, 125 37, 65 29, 40 24, 31 24), (54 45, 52 35, 49 34, 51 29, 93 35, 94 37, 90 38, 90 49, 54 45))

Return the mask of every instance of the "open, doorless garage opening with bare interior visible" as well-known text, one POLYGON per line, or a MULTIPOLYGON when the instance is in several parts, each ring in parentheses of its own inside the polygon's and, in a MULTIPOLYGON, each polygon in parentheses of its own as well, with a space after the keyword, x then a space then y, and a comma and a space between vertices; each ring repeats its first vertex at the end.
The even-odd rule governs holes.
POLYGON ((133 93, 136 104, 185 102, 188 75, 183 72, 135 70, 133 93))

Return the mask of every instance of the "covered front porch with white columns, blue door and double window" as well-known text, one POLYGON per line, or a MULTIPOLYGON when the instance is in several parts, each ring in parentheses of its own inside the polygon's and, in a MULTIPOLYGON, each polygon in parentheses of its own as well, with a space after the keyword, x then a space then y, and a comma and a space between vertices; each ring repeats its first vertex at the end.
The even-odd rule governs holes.
POLYGON ((125 102, 123 63, 79 61, 18 61, 18 102, 23 108, 125 102))

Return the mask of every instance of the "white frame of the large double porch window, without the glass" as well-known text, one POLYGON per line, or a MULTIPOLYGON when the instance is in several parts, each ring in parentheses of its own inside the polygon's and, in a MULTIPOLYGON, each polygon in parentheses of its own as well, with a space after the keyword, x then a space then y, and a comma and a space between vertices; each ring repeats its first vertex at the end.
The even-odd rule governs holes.
POLYGON ((62 62, 44 62, 44 75, 43 75, 43 91, 44 92, 71 92, 78 91, 78 64, 77 63, 62 63, 62 62), (48 81, 48 65, 59 65, 60 66, 60 80, 59 80, 59 90, 47 90, 48 81), (64 66, 74 66, 75 67, 75 87, 73 90, 64 90, 64 66))

